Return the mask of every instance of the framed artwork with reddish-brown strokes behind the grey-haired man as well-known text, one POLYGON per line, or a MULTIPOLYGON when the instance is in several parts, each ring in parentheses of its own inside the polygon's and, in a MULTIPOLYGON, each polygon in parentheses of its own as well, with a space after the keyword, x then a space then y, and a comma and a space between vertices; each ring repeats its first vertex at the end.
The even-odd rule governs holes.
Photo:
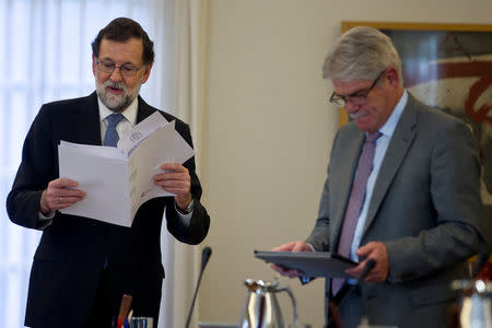
MULTIPOLYGON (((342 22, 372 26, 401 57, 403 86, 421 102, 462 119, 480 147, 481 195, 492 221, 492 25, 342 22)), ((339 124, 348 121, 340 110, 339 124)))

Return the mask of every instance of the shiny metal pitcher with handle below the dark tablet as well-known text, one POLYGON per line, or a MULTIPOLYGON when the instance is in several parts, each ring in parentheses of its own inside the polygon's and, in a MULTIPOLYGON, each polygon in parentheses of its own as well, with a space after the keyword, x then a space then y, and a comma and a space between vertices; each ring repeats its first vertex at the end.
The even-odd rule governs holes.
POLYGON ((292 301, 294 325, 298 326, 297 305, 289 286, 279 286, 279 279, 273 282, 246 279, 244 284, 248 295, 243 308, 238 327, 242 328, 283 328, 285 327, 276 294, 286 292, 292 301))

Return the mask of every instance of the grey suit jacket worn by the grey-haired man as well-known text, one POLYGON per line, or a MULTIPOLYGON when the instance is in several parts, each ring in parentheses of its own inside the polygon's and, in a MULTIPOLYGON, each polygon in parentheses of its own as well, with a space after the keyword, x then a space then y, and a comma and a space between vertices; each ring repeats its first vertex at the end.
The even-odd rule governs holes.
MULTIPOLYGON (((364 132, 353 122, 337 133, 319 216, 307 238, 316 250, 337 249, 363 141, 364 132)), ((481 243, 479 176, 468 127, 409 95, 361 241, 383 242, 389 257, 387 282, 362 288, 371 324, 448 327, 447 306, 455 296, 450 281, 467 277, 466 259, 481 243)))

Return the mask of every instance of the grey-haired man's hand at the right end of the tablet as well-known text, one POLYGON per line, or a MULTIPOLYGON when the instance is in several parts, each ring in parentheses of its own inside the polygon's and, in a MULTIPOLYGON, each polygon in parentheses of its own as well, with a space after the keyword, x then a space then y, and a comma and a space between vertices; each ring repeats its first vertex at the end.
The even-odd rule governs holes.
POLYGON ((376 261, 374 268, 367 273, 364 278, 366 282, 383 282, 386 281, 389 274, 389 261, 388 261, 388 251, 386 250, 385 244, 380 242, 371 242, 360 247, 356 251, 356 255, 365 258, 362 262, 359 263, 355 268, 348 269, 345 272, 354 278, 359 278, 361 276, 362 270, 364 269, 365 263, 370 258, 376 261))

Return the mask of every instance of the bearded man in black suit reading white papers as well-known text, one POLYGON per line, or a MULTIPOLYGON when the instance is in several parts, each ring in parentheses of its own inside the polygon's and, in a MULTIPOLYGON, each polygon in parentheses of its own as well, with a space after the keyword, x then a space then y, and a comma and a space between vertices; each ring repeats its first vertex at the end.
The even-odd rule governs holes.
MULTIPOLYGON (((168 121, 176 119, 139 96, 154 51, 137 22, 114 20, 98 33, 92 49, 96 92, 40 108, 7 200, 12 222, 43 231, 31 272, 28 327, 112 327, 124 294, 132 295, 136 315, 156 320, 164 278, 160 249, 164 209, 167 230, 183 243, 200 243, 210 224, 200 203, 194 157, 184 165, 162 163, 154 183, 175 196, 142 204, 131 227, 58 211, 85 196, 78 181, 59 178, 60 140, 115 145, 118 136, 155 112, 168 121)), ((176 119, 176 130, 192 144, 188 125, 176 119)))

